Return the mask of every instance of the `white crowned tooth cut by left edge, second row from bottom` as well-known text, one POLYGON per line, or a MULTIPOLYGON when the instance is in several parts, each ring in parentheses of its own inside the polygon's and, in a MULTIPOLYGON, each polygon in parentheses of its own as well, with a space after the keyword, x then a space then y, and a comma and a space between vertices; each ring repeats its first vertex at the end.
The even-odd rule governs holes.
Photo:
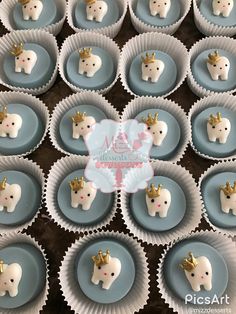
POLYGON ((8 184, 7 178, 0 182, 0 211, 6 208, 8 213, 14 212, 21 199, 21 187, 19 184, 8 184))

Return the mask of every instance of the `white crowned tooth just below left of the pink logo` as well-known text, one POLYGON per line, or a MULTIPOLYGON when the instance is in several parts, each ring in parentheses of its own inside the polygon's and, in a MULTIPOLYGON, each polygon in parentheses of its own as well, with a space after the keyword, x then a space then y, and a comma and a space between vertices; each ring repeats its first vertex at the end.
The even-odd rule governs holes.
POLYGON ((71 188, 71 206, 78 208, 82 206, 83 210, 89 210, 96 197, 97 189, 92 182, 85 182, 84 178, 75 178, 70 182, 71 188))

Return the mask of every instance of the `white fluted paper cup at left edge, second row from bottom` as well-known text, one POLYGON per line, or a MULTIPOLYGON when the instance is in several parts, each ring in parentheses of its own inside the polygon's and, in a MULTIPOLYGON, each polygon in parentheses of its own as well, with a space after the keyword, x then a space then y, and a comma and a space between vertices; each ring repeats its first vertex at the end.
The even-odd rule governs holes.
POLYGON ((3 171, 19 171, 32 176, 41 187, 41 202, 35 215, 28 221, 17 225, 0 225, 0 234, 20 232, 33 224, 39 215, 43 204, 43 192, 45 188, 45 176, 42 169, 33 161, 15 156, 0 156, 0 174, 3 171))

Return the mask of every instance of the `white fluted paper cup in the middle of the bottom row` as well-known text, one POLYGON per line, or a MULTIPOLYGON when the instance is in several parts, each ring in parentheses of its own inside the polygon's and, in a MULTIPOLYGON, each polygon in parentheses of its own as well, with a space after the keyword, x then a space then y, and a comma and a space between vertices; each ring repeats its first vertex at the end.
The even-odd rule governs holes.
POLYGON ((133 314, 142 309, 147 303, 149 274, 145 252, 137 240, 120 232, 103 231, 92 233, 77 240, 66 252, 58 275, 65 300, 75 313, 133 314), (96 303, 86 297, 76 281, 75 268, 73 267, 79 251, 93 241, 106 239, 117 240, 127 247, 129 253, 134 258, 136 270, 131 290, 120 301, 111 304, 96 303))

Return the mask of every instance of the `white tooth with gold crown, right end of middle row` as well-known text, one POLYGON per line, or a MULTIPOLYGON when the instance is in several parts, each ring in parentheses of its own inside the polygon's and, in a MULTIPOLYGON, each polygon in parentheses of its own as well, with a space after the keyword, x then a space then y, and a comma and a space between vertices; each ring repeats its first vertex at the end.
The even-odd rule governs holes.
POLYGON ((229 119, 222 118, 221 113, 218 112, 216 116, 211 115, 207 122, 207 134, 210 142, 219 140, 220 144, 227 142, 231 131, 231 123, 229 119))

